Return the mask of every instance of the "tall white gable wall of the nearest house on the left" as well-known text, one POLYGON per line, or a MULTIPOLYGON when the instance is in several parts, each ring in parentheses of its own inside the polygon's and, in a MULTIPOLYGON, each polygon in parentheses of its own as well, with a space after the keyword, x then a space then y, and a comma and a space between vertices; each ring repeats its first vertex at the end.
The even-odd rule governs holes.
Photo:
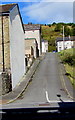
POLYGON ((24 31, 17 6, 10 12, 10 61, 12 88, 25 73, 24 31))

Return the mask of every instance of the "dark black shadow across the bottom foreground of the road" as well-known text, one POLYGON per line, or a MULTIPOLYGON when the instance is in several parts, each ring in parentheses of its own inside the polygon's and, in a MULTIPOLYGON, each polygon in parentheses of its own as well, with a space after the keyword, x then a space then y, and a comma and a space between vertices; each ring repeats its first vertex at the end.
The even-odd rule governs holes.
POLYGON ((3 109, 0 114, 1 111, 2 120, 74 120, 75 102, 60 102, 58 106, 3 109))

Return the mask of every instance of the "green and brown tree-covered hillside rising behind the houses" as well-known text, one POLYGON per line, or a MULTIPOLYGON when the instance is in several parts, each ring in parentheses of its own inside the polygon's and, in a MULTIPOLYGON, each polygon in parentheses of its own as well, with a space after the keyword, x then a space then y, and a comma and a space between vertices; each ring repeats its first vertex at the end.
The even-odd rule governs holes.
POLYGON ((64 26, 65 36, 75 36, 75 24, 73 23, 53 23, 48 25, 41 25, 42 39, 48 40, 48 51, 56 50, 55 40, 57 37, 62 37, 64 26))

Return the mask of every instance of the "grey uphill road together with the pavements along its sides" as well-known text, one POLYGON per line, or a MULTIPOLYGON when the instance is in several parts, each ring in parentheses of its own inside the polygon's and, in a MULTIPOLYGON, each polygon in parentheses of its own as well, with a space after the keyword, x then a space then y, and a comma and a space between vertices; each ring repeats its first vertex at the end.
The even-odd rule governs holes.
POLYGON ((44 105, 73 102, 75 89, 65 73, 64 65, 57 54, 47 53, 35 60, 28 73, 11 93, 2 96, 1 104, 11 103, 8 106, 28 107, 29 104, 36 103, 44 105))

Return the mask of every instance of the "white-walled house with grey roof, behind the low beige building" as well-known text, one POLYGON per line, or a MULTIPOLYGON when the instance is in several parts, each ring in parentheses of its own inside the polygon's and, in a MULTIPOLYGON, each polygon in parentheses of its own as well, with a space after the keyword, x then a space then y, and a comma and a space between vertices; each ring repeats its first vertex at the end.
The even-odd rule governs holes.
POLYGON ((41 26, 37 24, 24 24, 25 38, 35 38, 41 55, 41 26))

